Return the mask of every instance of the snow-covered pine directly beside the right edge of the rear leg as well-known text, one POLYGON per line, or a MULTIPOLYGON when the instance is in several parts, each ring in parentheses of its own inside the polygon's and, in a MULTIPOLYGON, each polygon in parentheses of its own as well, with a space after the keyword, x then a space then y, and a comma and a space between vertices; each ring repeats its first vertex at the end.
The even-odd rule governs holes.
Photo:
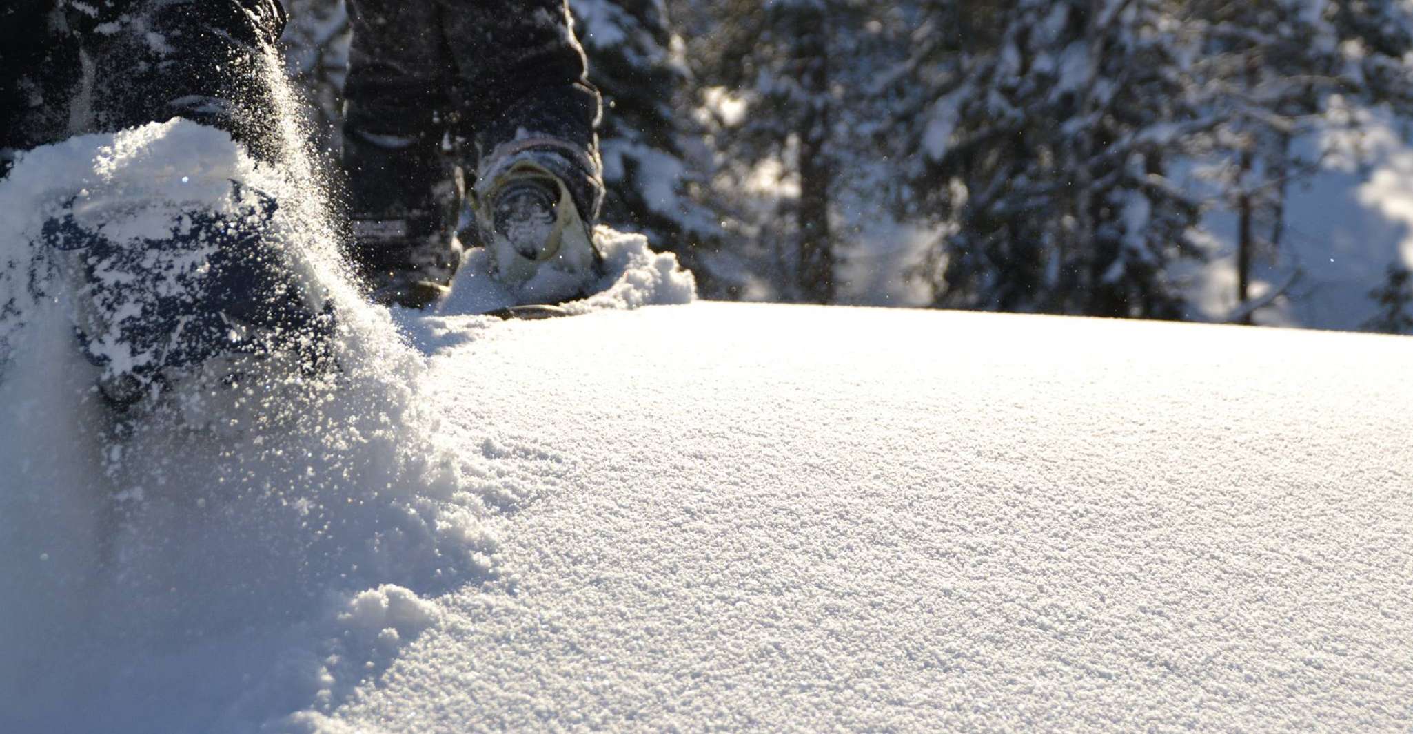
POLYGON ((698 248, 719 240, 718 217, 695 196, 704 182, 684 162, 690 120, 677 113, 690 71, 664 0, 571 0, 589 76, 603 93, 599 128, 608 199, 603 222, 647 234, 708 277, 698 248))

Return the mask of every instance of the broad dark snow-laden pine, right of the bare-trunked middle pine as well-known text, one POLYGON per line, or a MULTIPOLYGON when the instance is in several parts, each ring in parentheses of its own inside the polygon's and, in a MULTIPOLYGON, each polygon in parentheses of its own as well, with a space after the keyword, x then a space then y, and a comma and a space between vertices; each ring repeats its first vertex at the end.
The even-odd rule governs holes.
MULTIPOLYGON (((1197 257, 1198 202, 1167 171, 1208 124, 1164 0, 979 3, 986 25, 935 44, 909 144, 911 184, 950 227, 937 305, 1181 318, 1169 267, 1197 257), (989 42, 988 42, 989 41, 989 42)), ((926 23, 958 23, 928 3, 926 23)))

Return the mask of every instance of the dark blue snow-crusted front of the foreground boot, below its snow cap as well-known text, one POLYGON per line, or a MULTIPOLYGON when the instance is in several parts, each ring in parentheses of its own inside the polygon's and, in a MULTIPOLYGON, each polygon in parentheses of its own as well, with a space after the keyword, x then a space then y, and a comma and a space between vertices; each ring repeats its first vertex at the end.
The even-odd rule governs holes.
POLYGON ((273 198, 232 182, 216 205, 81 195, 45 222, 40 244, 66 284, 110 402, 137 402, 174 374, 229 357, 326 367, 332 308, 302 285, 277 212, 273 198))

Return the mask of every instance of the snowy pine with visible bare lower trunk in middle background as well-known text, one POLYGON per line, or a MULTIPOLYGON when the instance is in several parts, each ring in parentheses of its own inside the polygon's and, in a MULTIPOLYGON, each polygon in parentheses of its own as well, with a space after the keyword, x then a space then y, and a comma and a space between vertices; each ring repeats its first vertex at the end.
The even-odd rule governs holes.
MULTIPOLYGON (((828 303, 835 299, 841 234, 836 196, 842 176, 872 145, 865 130, 868 89, 880 45, 863 0, 714 0, 705 6, 711 34, 691 55, 701 88, 743 110, 719 120, 712 144, 738 200, 764 175, 773 191, 752 222, 756 239, 774 248, 773 296, 828 303), (769 172, 769 174, 767 174, 769 172)), ((708 100, 709 102, 709 100, 708 100)), ((705 104, 708 110, 712 104, 705 104)), ((876 123, 876 120, 873 120, 876 123)), ((876 157, 873 157, 876 158, 876 157)), ((742 210, 752 210, 743 203, 742 210)))

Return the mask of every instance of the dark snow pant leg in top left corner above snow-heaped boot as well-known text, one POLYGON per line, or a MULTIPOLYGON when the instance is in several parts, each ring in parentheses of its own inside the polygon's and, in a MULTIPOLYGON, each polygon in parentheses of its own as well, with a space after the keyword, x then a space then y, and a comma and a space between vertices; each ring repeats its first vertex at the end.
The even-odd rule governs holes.
POLYGON ((172 117, 226 130, 257 157, 280 154, 278 0, 3 1, 0 161, 172 117))

